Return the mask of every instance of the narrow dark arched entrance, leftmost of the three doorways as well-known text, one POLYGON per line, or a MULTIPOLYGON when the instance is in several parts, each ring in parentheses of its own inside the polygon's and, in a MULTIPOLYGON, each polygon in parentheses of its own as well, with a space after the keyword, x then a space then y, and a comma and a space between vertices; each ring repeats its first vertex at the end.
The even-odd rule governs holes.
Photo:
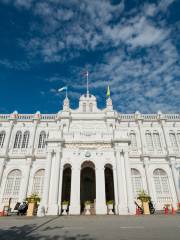
POLYGON ((71 195, 71 165, 65 164, 63 170, 61 202, 68 201, 70 204, 70 195, 71 195))

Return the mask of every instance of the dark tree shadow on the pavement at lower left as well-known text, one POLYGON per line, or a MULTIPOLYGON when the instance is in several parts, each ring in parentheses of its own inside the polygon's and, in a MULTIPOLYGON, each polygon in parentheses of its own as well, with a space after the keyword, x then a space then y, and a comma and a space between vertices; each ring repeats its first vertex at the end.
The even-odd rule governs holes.
POLYGON ((4 230, 0 229, 0 240, 95 240, 89 234, 71 234, 69 236, 68 231, 63 231, 64 226, 48 226, 48 223, 53 220, 45 221, 40 225, 26 224, 20 227, 14 226, 4 230), (53 231, 55 231, 56 235, 53 231))

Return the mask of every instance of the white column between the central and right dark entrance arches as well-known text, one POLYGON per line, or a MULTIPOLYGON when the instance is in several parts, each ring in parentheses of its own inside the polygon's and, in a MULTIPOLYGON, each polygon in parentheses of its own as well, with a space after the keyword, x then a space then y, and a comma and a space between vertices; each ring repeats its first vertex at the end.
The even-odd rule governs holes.
POLYGON ((96 214, 107 214, 104 166, 96 167, 96 214))

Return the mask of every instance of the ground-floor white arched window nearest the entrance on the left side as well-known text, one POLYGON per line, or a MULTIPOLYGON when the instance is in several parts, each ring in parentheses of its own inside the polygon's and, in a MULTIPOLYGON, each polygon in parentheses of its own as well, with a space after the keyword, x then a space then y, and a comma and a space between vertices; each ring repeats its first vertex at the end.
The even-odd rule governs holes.
POLYGON ((43 186, 44 186, 44 169, 38 170, 34 175, 32 193, 42 197, 43 186))

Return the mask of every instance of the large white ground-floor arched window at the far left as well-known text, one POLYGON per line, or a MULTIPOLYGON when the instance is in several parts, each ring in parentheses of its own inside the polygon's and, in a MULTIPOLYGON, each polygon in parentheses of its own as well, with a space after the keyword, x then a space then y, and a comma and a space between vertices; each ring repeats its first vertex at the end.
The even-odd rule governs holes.
POLYGON ((8 174, 3 194, 3 203, 8 203, 10 198, 11 204, 15 204, 18 201, 21 178, 22 174, 18 169, 15 169, 8 174))

